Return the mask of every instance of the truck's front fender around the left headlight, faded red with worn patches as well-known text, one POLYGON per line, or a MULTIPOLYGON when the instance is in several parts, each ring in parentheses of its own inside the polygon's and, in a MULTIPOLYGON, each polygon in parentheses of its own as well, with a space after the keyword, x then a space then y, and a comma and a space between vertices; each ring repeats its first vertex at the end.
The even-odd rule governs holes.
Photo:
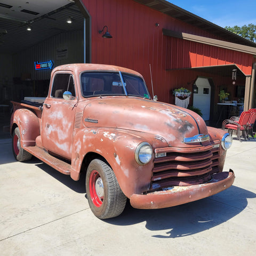
MULTIPOLYGON (((105 158, 113 169, 123 193, 130 198, 134 193, 149 189, 153 158, 146 165, 135 161, 135 150, 141 142, 154 147, 166 147, 167 142, 154 134, 125 131, 115 128, 83 129, 76 134, 71 158, 71 178, 79 179, 79 172, 87 154, 105 158)), ((154 148, 153 148, 154 155, 154 148)))

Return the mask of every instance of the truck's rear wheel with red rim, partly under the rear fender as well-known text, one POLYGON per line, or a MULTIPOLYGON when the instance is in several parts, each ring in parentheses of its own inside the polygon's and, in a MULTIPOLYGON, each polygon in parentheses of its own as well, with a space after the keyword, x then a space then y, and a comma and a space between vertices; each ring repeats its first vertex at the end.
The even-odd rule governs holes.
POLYGON ((12 133, 12 153, 19 162, 29 161, 32 155, 20 146, 20 130, 16 127, 12 133))

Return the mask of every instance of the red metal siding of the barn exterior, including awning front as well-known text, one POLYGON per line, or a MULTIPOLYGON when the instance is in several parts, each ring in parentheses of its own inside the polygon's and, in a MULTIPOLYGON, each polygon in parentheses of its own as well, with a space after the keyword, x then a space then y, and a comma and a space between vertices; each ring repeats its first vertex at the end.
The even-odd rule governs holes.
POLYGON ((92 63, 134 69, 145 77, 150 91, 149 65, 151 65, 154 94, 158 95, 160 101, 174 103, 172 90, 181 85, 186 86, 198 75, 195 71, 166 71, 166 69, 214 66, 225 61, 226 63, 239 61, 238 67, 246 74, 250 73, 251 56, 246 56, 246 59, 244 54, 242 57, 241 54, 233 56, 233 51, 219 52, 218 47, 167 37, 163 35, 162 29, 214 39, 223 40, 223 38, 213 36, 132 0, 82 1, 91 15, 92 63), (155 26, 155 23, 159 23, 159 26, 155 26), (102 38, 102 34, 98 33, 105 25, 108 26, 108 31, 113 38, 102 38), (222 57, 220 58, 218 54, 222 57), (225 57, 228 60, 225 60, 225 57))

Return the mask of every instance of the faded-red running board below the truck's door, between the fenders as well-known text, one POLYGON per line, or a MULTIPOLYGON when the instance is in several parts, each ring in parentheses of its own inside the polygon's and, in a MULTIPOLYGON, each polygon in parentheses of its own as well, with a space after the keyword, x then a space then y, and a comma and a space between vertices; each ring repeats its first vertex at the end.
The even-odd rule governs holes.
POLYGON ((32 154, 33 156, 42 160, 44 163, 53 167, 55 170, 63 174, 70 175, 71 164, 68 164, 54 156, 51 156, 47 151, 37 146, 24 147, 24 149, 28 151, 30 154, 32 154))

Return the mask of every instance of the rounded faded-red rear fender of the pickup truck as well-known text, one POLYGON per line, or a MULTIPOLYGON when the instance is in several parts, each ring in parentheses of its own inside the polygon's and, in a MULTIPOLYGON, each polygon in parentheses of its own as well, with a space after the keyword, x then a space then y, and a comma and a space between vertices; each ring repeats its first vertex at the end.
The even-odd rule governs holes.
POLYGON ((36 137, 40 135, 39 120, 33 111, 29 109, 17 109, 13 113, 12 132, 15 124, 20 130, 21 147, 30 147, 36 145, 36 137))

